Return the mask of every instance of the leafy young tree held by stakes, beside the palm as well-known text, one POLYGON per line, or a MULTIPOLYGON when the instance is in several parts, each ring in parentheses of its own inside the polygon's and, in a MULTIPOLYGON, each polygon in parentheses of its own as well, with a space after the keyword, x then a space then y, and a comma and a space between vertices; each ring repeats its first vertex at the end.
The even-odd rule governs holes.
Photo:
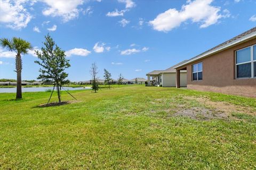
POLYGON ((68 82, 68 80, 65 80, 68 73, 64 70, 70 67, 69 60, 65 58, 65 51, 55 44, 49 34, 45 36, 44 47, 41 50, 42 52, 36 50, 39 61, 35 61, 35 63, 42 66, 39 69, 41 74, 39 74, 38 79, 53 81, 57 88, 59 102, 61 102, 60 90, 62 85, 68 82))

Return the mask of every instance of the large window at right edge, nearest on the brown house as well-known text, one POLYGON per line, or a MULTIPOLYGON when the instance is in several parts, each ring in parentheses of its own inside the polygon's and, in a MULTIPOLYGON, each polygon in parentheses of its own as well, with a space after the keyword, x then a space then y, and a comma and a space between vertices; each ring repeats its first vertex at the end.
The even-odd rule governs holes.
POLYGON ((256 78, 256 45, 236 51, 236 78, 256 78))

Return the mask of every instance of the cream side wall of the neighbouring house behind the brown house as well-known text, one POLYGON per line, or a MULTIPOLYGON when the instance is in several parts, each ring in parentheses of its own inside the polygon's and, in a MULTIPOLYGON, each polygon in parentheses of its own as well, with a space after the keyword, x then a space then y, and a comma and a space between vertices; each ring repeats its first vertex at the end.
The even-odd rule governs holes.
MULTIPOLYGON (((176 73, 163 74, 163 87, 176 87, 176 73)), ((180 86, 187 87, 187 73, 180 73, 180 86)))

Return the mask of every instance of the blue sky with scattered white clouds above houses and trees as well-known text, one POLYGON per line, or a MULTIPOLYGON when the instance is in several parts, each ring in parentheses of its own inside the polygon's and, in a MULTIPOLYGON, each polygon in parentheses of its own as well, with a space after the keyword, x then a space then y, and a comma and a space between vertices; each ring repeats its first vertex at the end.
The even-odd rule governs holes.
MULTIPOLYGON (((256 1, 0 0, 0 38, 20 37, 32 50, 22 56, 22 80, 36 80, 39 50, 50 33, 66 51, 70 81, 146 78, 188 60, 256 26, 256 1)), ((15 53, 0 47, 0 78, 15 79, 15 53)))

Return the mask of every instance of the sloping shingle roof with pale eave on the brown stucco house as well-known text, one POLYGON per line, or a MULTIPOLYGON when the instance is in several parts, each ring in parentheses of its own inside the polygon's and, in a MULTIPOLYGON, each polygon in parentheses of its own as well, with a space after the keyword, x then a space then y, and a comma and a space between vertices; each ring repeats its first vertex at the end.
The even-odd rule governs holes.
POLYGON ((197 61, 197 60, 199 60, 201 58, 208 57, 208 56, 210 56, 212 54, 219 53, 222 50, 225 50, 225 49, 233 47, 235 45, 244 43, 245 41, 249 41, 249 40, 251 40, 251 39, 253 39, 255 37, 256 37, 256 27, 254 27, 254 28, 252 28, 252 29, 250 29, 248 31, 245 31, 245 32, 241 33, 240 35, 238 35, 238 36, 236 36, 234 38, 231 38, 230 40, 227 40, 224 43, 219 44, 218 46, 215 46, 215 47, 213 47, 213 48, 211 48, 209 50, 206 50, 206 52, 191 58, 187 62, 175 66, 174 69, 176 69, 178 67, 181 67, 181 66, 185 66, 186 64, 189 64, 191 62, 197 61))

